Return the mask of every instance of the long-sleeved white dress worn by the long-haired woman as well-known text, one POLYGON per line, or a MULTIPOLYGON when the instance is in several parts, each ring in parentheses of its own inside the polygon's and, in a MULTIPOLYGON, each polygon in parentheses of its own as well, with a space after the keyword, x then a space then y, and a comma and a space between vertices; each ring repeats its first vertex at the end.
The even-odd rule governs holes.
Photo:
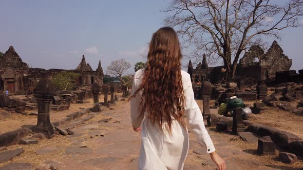
MULTIPOLYGON (((198 142, 205 148, 207 153, 215 151, 214 144, 207 133, 202 113, 194 99, 194 92, 190 75, 181 71, 182 83, 185 96, 185 115, 188 124, 193 129, 198 142)), ((143 70, 135 73, 132 82, 131 95, 133 95, 141 84, 144 76, 143 70)), ((140 93, 141 94, 141 93, 140 93)), ((141 148, 138 168, 148 170, 183 169, 184 161, 188 153, 188 131, 184 129, 177 120, 172 121, 172 135, 161 132, 159 125, 153 125, 151 121, 142 115, 139 117, 141 96, 138 93, 130 100, 130 114, 132 125, 135 128, 141 126, 141 148)), ((164 125, 163 125, 164 126, 164 125)))

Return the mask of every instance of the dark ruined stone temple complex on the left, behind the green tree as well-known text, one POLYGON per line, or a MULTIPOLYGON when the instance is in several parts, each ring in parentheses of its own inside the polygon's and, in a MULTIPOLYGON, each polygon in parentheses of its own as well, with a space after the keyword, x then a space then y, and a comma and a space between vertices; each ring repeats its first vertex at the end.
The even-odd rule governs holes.
POLYGON ((51 79, 62 71, 78 73, 80 75, 76 81, 78 87, 90 85, 94 81, 97 81, 100 86, 103 84, 104 74, 101 61, 99 61, 96 71, 93 71, 89 63, 86 63, 84 55, 79 66, 74 70, 29 68, 10 46, 4 55, 0 56, 0 91, 8 90, 9 93, 29 94, 41 79, 42 73, 46 73, 51 79))

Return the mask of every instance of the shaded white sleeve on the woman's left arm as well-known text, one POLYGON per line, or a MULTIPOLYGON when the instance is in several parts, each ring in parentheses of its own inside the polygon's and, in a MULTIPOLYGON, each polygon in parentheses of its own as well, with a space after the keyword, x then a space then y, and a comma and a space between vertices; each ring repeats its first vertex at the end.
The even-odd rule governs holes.
MULTIPOLYGON (((134 80, 132 80, 130 96, 134 95, 134 93, 137 91, 137 89, 138 89, 138 87, 136 86, 136 74, 135 74, 134 80)), ((141 113, 140 103, 141 103, 141 95, 139 92, 136 94, 136 97, 134 97, 130 100, 131 124, 135 128, 139 128, 141 126, 142 120, 144 118, 144 114, 142 114, 140 116, 140 113, 141 113)))

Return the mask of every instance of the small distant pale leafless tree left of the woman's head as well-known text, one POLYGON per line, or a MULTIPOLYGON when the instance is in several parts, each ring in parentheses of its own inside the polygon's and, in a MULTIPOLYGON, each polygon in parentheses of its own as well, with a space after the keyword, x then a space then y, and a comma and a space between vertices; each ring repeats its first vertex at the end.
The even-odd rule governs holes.
POLYGON ((109 75, 118 76, 119 80, 125 84, 122 75, 130 67, 130 62, 126 61, 124 58, 120 58, 118 60, 111 61, 110 65, 107 66, 106 73, 109 75))

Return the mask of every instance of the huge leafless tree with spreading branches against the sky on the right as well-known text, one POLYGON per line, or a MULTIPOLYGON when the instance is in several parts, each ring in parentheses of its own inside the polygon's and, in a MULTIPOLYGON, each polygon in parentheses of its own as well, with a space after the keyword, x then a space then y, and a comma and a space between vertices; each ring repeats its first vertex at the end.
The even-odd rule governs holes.
POLYGON ((262 47, 264 37, 280 38, 281 30, 300 26, 302 9, 303 0, 173 0, 163 12, 172 14, 164 22, 177 30, 182 47, 194 48, 192 58, 201 60, 202 53, 209 62, 222 58, 229 79, 247 48, 262 47))

